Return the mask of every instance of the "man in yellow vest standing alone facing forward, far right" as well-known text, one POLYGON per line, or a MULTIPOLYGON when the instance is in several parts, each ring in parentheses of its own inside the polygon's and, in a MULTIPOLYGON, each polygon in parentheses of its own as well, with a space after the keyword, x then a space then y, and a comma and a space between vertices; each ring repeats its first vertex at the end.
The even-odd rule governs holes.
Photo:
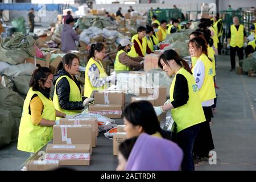
POLYGON ((237 16, 233 18, 232 26, 229 28, 228 33, 228 45, 227 48, 230 49, 230 71, 234 71, 236 68, 236 52, 239 60, 243 60, 243 47, 247 46, 246 43, 246 31, 242 24, 239 24, 239 19, 237 16))

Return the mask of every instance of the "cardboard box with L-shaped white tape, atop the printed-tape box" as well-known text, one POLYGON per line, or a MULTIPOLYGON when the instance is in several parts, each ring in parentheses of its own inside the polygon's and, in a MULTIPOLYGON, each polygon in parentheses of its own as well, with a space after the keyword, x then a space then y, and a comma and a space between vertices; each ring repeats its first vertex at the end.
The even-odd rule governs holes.
POLYGON ((90 144, 92 147, 92 125, 54 125, 53 144, 90 144))

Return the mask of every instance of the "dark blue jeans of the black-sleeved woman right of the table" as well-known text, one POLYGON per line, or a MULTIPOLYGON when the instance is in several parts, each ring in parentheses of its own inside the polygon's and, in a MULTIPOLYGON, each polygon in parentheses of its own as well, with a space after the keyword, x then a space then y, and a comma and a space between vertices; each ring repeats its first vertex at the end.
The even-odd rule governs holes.
POLYGON ((200 123, 193 125, 177 133, 177 144, 183 150, 183 161, 181 164, 182 171, 194 171, 195 165, 193 160, 193 144, 196 135, 199 132, 200 123))

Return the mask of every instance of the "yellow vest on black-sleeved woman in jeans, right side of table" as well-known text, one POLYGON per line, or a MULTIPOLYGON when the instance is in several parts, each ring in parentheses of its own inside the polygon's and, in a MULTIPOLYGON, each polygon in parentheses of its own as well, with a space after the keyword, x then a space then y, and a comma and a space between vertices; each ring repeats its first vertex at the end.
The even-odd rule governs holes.
MULTIPOLYGON (((196 125, 198 123, 205 121, 203 107, 199 100, 199 93, 197 90, 197 85, 195 78, 184 68, 180 68, 177 74, 183 75, 188 82, 188 101, 187 104, 176 107, 171 110, 172 118, 177 125, 177 132, 187 129, 190 126, 196 125)), ((177 75, 176 74, 176 75, 177 75)), ((172 81, 170 88, 170 101, 174 101, 174 86, 176 81, 176 75, 172 81)))

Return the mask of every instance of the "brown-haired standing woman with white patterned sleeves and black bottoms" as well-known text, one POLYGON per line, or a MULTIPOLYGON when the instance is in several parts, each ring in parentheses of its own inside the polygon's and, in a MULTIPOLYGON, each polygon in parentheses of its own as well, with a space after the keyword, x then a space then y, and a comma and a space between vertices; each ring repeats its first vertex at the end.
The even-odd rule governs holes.
POLYGON ((191 57, 196 57, 195 67, 192 68, 193 76, 196 79, 197 89, 201 105, 204 109, 206 121, 201 124, 199 133, 194 144, 194 155, 196 159, 209 158, 209 151, 214 149, 212 133, 210 131, 210 121, 212 118, 212 105, 216 98, 213 82, 213 64, 209 59, 207 52, 207 43, 205 39, 193 38, 188 43, 191 57))

